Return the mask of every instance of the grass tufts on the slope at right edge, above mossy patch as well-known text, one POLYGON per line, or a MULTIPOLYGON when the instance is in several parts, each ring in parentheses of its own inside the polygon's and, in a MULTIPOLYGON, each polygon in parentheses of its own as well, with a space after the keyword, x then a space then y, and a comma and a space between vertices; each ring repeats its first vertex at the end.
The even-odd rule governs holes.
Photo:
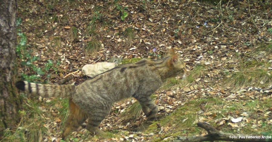
POLYGON ((234 72, 228 69, 223 71, 224 85, 234 90, 241 87, 267 87, 272 83, 272 71, 268 69, 271 63, 261 60, 263 56, 272 53, 272 44, 259 44, 251 52, 245 54, 235 53, 237 64, 229 68, 235 68, 234 72))

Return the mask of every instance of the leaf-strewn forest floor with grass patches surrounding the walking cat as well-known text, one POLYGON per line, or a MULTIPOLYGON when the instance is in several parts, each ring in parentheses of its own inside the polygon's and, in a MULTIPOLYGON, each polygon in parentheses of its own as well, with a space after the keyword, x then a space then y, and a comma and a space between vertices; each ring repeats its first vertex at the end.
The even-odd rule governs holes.
MULTIPOLYGON (((171 78, 154 93, 158 120, 146 121, 130 98, 114 104, 92 137, 71 142, 169 141, 203 135, 207 122, 230 133, 272 136, 272 1, 25 0, 18 1, 18 73, 53 84, 86 77, 86 64, 160 59, 173 47, 186 79, 171 78)), ((67 99, 26 98, 16 132, 4 141, 63 141, 67 99)))

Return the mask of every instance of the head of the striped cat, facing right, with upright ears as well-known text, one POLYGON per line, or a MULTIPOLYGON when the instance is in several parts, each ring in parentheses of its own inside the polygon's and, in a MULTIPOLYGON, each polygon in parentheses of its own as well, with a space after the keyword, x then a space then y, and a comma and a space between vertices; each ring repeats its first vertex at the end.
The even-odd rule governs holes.
POLYGON ((170 56, 170 59, 168 60, 167 64, 173 73, 173 76, 182 76, 182 78, 185 79, 187 72, 185 68, 186 63, 180 60, 179 56, 175 53, 173 48, 170 48, 168 51, 168 56, 170 56))

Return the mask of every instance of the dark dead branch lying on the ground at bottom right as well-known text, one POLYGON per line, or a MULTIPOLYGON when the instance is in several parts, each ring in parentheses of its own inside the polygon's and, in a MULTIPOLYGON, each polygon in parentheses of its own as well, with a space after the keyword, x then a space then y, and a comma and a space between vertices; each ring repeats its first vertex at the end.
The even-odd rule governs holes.
MULTIPOLYGON (((256 136, 248 134, 233 134, 233 133, 224 133, 220 132, 206 122, 198 122, 198 127, 205 129, 208 134, 204 136, 178 136, 176 140, 171 142, 201 142, 201 141, 215 141, 215 140, 224 140, 224 141, 237 141, 237 142, 266 142, 265 136, 256 136)), ((270 136, 271 137, 271 136, 270 136)), ((270 138, 269 137, 269 138, 270 138)), ((271 141, 270 138, 268 141, 271 141)))

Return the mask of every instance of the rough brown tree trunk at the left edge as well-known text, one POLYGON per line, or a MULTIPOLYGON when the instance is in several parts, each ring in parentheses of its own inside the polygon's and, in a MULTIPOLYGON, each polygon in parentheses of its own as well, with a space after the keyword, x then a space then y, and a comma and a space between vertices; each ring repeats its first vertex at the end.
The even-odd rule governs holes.
POLYGON ((16 0, 0 0, 0 140, 5 129, 15 130, 21 98, 15 87, 16 0))

